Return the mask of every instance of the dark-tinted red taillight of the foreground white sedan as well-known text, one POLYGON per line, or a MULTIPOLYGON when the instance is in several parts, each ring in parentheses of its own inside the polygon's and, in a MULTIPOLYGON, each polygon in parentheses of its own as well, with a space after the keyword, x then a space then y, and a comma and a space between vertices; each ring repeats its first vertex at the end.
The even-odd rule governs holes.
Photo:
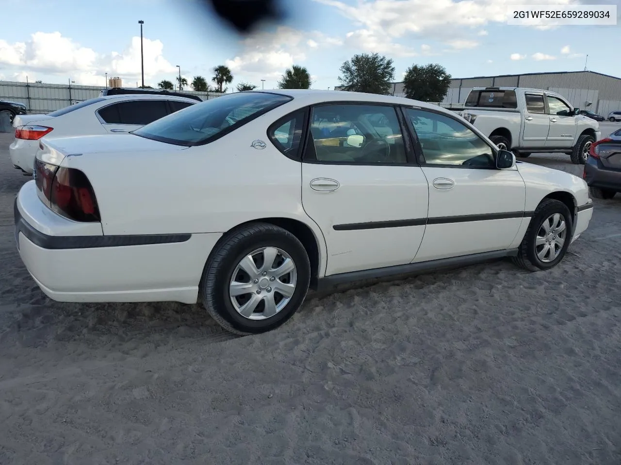
POLYGON ((73 221, 101 221, 93 186, 80 170, 37 159, 35 182, 39 198, 58 215, 73 221))

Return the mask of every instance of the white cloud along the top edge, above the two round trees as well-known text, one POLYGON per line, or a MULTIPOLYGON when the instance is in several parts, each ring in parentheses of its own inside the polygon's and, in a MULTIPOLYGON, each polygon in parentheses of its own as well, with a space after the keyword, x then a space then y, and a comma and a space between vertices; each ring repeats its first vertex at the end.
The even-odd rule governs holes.
MULTIPOLYGON (((381 53, 401 53, 409 56, 411 50, 399 44, 408 35, 433 38, 453 50, 479 45, 471 39, 487 35, 481 30, 487 24, 506 24, 509 6, 514 0, 314 0, 332 6, 358 30, 349 37, 358 38, 357 48, 381 53), (450 25, 450 26, 449 26, 450 25), (377 50, 371 47, 379 47, 377 50)), ((548 4, 573 4, 576 0, 547 0, 548 4)), ((540 4, 540 0, 520 0, 520 4, 540 4)), ((350 32, 351 34, 351 32, 350 32)), ((351 40, 348 45, 354 45, 351 40)))

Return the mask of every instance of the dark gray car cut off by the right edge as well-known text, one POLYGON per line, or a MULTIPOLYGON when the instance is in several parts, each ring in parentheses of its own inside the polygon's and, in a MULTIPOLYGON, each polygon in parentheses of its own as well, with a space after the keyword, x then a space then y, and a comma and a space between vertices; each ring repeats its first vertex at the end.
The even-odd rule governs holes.
POLYGON ((612 198, 621 192, 621 129, 591 145, 582 177, 591 197, 612 198))

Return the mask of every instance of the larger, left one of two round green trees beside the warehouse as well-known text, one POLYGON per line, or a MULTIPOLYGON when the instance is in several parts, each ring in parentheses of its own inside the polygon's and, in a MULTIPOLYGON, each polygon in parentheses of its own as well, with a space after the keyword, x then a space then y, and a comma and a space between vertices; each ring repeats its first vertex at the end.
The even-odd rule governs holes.
POLYGON ((392 59, 373 53, 354 55, 341 66, 338 76, 344 91, 388 95, 394 80, 392 59))

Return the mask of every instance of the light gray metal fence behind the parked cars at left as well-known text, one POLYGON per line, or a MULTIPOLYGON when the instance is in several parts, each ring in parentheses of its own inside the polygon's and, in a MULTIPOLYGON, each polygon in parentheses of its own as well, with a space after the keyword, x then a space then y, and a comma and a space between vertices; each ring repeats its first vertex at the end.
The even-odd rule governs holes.
MULTIPOLYGON (((0 81, 0 99, 24 104, 29 113, 50 113, 82 100, 99 97, 99 92, 103 89, 106 87, 0 81)), ((198 95, 203 100, 224 95, 217 92, 183 91, 183 93, 198 95)))

